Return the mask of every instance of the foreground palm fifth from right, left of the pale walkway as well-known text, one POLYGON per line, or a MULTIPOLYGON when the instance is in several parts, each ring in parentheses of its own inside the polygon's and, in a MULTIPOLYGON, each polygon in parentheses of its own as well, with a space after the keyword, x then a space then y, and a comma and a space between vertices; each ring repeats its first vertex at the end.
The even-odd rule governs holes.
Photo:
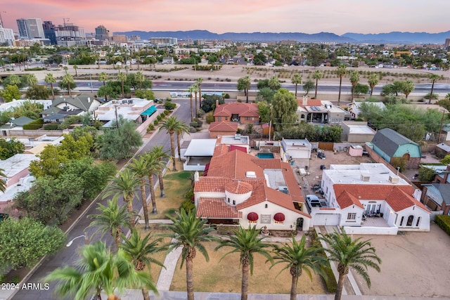
MULTIPOLYGON (((164 267, 164 265, 157 259, 153 259, 152 255, 161 251, 165 251, 167 247, 158 247, 161 242, 161 238, 153 240, 153 235, 148 233, 145 237, 141 238, 136 228, 131 230, 131 235, 129 238, 122 235, 124 242, 120 245, 120 249, 124 251, 125 254, 131 260, 134 265, 134 270, 142 271, 144 268, 150 270, 152 263, 158 266, 164 267)), ((148 289, 142 287, 143 299, 150 300, 148 296, 148 289)))

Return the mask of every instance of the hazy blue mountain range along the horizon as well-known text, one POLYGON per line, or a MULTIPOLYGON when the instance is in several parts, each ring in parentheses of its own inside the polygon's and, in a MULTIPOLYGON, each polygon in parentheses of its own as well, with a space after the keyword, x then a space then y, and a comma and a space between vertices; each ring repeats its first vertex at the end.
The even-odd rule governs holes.
POLYGON ((131 31, 115 32, 125 34, 128 37, 138 35, 141 39, 150 37, 176 37, 183 39, 229 39, 232 41, 282 41, 295 40, 300 42, 335 42, 335 43, 373 43, 373 44, 444 44, 445 39, 450 39, 450 31, 429 32, 387 32, 379 34, 360 34, 347 32, 342 35, 331 32, 319 32, 307 34, 302 32, 225 32, 217 34, 207 30, 188 31, 131 31))

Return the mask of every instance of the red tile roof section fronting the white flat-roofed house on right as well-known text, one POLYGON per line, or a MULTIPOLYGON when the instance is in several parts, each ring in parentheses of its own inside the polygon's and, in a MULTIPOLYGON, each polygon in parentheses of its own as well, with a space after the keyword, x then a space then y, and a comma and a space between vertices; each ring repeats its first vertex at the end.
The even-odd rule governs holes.
MULTIPOLYGON (((359 200, 385 200, 394 211, 416 205, 429 212, 422 203, 414 199, 411 185, 335 184, 333 189, 341 208, 357 205, 359 200)), ((361 202, 359 204, 362 207, 361 202)))

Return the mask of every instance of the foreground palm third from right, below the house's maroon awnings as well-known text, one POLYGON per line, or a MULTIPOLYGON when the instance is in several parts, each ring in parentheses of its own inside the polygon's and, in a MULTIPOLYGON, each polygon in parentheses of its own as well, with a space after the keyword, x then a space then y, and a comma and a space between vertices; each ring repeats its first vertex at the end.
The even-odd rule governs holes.
POLYGON ((231 235, 227 239, 220 240, 219 246, 215 249, 217 250, 221 247, 233 248, 233 250, 224 254, 223 257, 232 253, 240 254, 239 261, 242 265, 242 285, 240 290, 241 300, 247 300, 248 298, 249 271, 251 275, 253 274, 253 255, 262 254, 266 257, 266 259, 272 261, 269 251, 265 249, 270 247, 270 244, 266 244, 262 241, 265 238, 264 236, 258 237, 258 235, 259 230, 256 229, 256 226, 248 226, 247 230, 243 227, 239 227, 238 230, 234 230, 234 235, 231 235))

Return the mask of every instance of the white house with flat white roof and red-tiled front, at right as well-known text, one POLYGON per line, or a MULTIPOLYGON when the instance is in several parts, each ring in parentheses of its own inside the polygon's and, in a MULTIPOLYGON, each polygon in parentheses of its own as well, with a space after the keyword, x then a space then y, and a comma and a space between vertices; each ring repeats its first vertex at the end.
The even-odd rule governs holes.
POLYGON ((323 170, 323 205, 311 208, 312 226, 343 226, 347 233, 396 235, 429 231, 430 210, 384 164, 331 164, 323 170))

